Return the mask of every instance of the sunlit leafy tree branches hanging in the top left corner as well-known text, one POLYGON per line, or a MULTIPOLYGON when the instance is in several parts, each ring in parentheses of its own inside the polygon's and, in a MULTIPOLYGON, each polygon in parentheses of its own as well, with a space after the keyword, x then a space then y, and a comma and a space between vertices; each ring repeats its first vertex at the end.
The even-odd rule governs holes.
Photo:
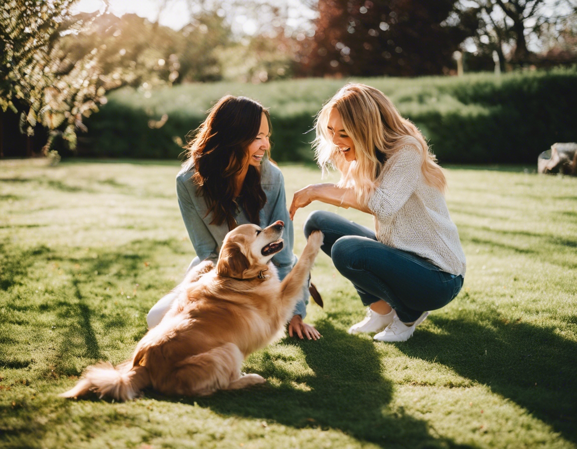
POLYGON ((20 128, 33 133, 37 122, 65 127, 62 136, 76 145, 82 117, 96 110, 105 81, 98 77, 96 49, 73 66, 62 57, 59 36, 77 33, 94 16, 70 16, 75 0, 8 0, 0 9, 0 107, 19 113, 20 128))

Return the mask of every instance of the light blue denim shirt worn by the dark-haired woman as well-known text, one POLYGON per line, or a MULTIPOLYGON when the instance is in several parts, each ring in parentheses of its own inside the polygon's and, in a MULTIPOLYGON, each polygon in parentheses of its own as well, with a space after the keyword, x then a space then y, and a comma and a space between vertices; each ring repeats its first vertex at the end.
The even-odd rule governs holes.
MULTIPOLYGON (((228 226, 223 223, 220 226, 211 225, 212 214, 207 216, 208 205, 203 196, 197 196, 197 186, 192 181, 194 169, 177 175, 177 197, 181 209, 182 219, 188 231, 192 246, 196 251, 196 257, 190 264, 194 267, 203 260, 212 260, 216 263, 220 252, 220 246, 224 236, 228 232, 228 226)), ((278 270, 279 278, 292 270, 297 257, 293 253, 294 230, 293 222, 288 218, 286 206, 286 194, 284 193, 284 178, 280 169, 269 160, 263 160, 260 165, 260 185, 267 196, 267 202, 260 211, 260 226, 272 225, 276 220, 284 222, 284 248, 272 257, 272 263, 278 270)), ((239 208, 235 216, 239 225, 250 223, 246 212, 239 208)), ((306 305, 309 301, 308 286, 302 291, 302 298, 297 302, 293 315, 306 316, 306 305)))

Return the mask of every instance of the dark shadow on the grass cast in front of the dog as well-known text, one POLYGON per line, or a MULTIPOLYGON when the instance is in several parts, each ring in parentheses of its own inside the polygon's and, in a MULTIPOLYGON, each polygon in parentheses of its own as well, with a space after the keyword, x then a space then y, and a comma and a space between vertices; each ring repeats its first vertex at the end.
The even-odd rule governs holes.
MULTIPOLYGON (((220 391, 208 398, 159 400, 197 402, 224 415, 271 420, 294 428, 339 429, 359 441, 381 447, 459 447, 454 441, 431 435, 428 424, 389 409, 393 386, 381 375, 381 360, 369 339, 339 330, 328 320, 317 321, 320 341, 286 338, 305 355, 308 374, 295 375, 283 364, 286 357, 264 350, 254 369, 269 383, 239 391, 220 391)), ((290 365, 289 365, 290 366, 290 365)))

